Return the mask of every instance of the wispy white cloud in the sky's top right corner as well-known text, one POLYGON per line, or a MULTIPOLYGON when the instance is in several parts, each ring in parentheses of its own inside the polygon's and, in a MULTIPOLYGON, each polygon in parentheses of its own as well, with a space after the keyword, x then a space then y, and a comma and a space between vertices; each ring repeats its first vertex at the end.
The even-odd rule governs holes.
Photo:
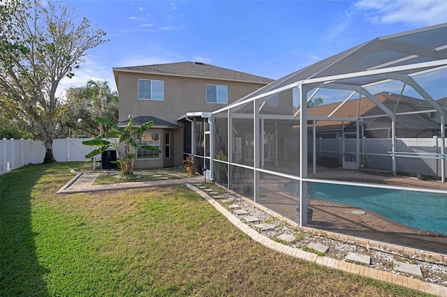
POLYGON ((445 0, 360 0, 354 6, 373 24, 402 22, 430 26, 446 22, 447 16, 445 0))

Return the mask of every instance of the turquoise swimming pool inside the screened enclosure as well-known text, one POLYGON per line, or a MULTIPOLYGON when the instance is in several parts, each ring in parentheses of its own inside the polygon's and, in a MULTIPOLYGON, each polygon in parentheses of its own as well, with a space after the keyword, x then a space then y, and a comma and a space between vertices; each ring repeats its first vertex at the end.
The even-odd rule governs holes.
MULTIPOLYGON (((296 193, 300 185, 286 190, 296 193)), ((312 183, 314 199, 357 206, 416 229, 447 234, 447 195, 354 185, 312 183)))

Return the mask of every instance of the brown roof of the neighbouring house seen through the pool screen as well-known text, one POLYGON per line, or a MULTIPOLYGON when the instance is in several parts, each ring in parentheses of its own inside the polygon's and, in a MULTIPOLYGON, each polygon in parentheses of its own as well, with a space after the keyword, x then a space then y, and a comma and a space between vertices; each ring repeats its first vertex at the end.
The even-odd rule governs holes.
MULTIPOLYGON (((419 99, 412 98, 409 96, 400 96, 394 93, 389 92, 381 92, 374 97, 382 102, 384 105, 386 105, 388 108, 394 109, 395 105, 397 104, 397 101, 399 101, 399 104, 406 105, 407 109, 411 109, 413 111, 419 110, 420 108, 418 105, 416 105, 415 102, 418 102, 419 99)), ((424 101, 424 100, 420 100, 424 101)), ((335 110, 342 102, 335 102, 328 105, 320 105, 317 107, 309 107, 307 109, 307 116, 309 116, 309 119, 312 119, 312 116, 328 116, 332 111, 335 110)), ((383 114, 383 112, 380 111, 379 107, 376 107, 374 102, 369 100, 369 98, 360 98, 360 99, 351 99, 340 107, 337 112, 335 112, 332 116, 335 117, 353 117, 358 118, 361 116, 367 116, 367 115, 375 115, 375 114, 383 114), (360 100, 360 105, 359 105, 360 100)), ((439 125, 432 119, 430 119, 429 116, 426 116, 425 114, 419 114, 417 116, 405 116, 400 115, 397 117, 397 122, 400 123, 400 125, 411 128, 411 129, 429 129, 429 130, 438 130, 439 125)), ((349 124, 351 122, 345 121, 344 124, 349 124)), ((335 129, 335 128, 341 128, 342 122, 341 121, 317 121, 316 127, 319 130, 323 129, 335 129)))

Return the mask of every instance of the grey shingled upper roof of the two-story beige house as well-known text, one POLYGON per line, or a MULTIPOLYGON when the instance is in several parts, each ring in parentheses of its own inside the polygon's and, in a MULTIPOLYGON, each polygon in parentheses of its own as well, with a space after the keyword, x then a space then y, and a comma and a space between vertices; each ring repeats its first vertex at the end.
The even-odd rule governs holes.
POLYGON ((197 77, 206 79, 222 79, 237 82, 256 82, 261 84, 269 84, 273 79, 242 73, 236 70, 212 66, 201 62, 179 62, 167 64, 155 64, 145 66, 130 66, 113 68, 115 81, 118 85, 119 72, 125 73, 145 73, 153 75, 170 75, 176 77, 197 77))

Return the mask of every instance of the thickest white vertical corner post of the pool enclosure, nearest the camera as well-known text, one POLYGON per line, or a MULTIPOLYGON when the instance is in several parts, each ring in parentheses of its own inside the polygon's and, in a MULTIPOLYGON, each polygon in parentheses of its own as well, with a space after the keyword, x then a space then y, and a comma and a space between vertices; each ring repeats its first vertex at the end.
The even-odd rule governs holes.
POLYGON ((307 224, 307 86, 300 88, 300 226, 307 224))

